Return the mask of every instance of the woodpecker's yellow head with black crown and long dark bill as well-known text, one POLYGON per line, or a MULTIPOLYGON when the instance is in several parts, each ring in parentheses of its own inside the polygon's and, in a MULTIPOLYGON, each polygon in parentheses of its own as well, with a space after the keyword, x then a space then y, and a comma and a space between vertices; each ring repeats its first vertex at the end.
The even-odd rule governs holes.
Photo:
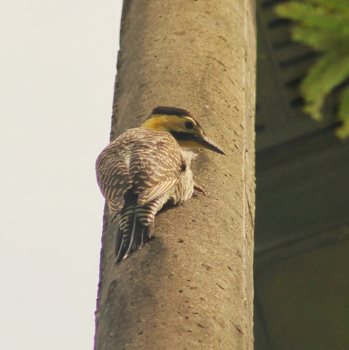
POLYGON ((156 107, 141 127, 156 131, 168 131, 184 148, 207 148, 213 152, 225 154, 206 137, 199 122, 189 112, 181 108, 156 107))

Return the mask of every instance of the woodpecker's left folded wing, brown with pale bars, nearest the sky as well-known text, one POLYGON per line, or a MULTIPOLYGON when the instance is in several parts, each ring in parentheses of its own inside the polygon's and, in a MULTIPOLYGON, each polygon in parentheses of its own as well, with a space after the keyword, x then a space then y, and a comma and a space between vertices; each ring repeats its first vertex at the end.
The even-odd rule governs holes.
POLYGON ((117 214, 124 205, 123 196, 132 187, 132 179, 123 157, 109 144, 96 161, 98 186, 107 200, 111 214, 117 214))

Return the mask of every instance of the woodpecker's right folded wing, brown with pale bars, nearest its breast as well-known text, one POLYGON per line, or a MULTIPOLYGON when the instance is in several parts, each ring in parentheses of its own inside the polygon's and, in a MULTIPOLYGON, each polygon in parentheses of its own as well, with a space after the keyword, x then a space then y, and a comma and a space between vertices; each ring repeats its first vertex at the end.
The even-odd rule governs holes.
POLYGON ((138 144, 130 157, 130 175, 138 204, 145 204, 161 196, 179 181, 182 171, 180 146, 170 135, 138 144))

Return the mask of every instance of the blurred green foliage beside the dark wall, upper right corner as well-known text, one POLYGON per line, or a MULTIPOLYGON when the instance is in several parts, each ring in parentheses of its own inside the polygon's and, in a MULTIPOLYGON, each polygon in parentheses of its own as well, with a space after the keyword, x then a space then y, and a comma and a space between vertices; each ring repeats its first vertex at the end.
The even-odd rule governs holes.
MULTIPOLYGON (((280 17, 294 21, 292 38, 322 53, 301 83, 304 111, 321 120, 326 96, 349 78, 349 0, 303 0, 276 6, 280 17)), ((338 137, 349 137, 349 87, 342 89, 338 137)))

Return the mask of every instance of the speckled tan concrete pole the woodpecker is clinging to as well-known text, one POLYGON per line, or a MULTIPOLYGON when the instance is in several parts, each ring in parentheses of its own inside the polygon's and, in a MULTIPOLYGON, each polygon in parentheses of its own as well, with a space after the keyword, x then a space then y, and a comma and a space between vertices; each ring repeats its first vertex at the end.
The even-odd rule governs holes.
POLYGON ((227 155, 198 151, 207 198, 162 210, 119 265, 105 210, 95 349, 252 349, 254 3, 125 0, 121 25, 111 139, 168 105, 227 155))

